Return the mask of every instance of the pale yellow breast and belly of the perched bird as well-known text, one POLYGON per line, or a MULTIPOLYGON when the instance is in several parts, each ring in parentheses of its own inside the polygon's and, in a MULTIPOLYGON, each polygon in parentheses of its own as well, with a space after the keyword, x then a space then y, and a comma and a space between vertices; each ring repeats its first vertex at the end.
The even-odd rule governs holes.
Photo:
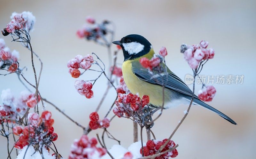
MULTIPOLYGON (((163 87, 145 82, 134 75, 131 60, 124 61, 122 71, 124 82, 133 94, 138 93, 140 98, 142 98, 143 95, 148 95, 151 104, 157 107, 163 105, 163 87)), ((170 93, 168 89, 164 89, 164 107, 168 107, 167 104, 170 101, 170 93)))

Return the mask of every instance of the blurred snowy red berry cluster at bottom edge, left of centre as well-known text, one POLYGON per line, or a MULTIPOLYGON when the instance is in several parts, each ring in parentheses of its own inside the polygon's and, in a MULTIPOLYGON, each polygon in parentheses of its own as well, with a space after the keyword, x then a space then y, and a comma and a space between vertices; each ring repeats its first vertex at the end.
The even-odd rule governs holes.
POLYGON ((105 148, 96 147, 96 138, 89 139, 83 135, 79 140, 75 140, 71 145, 71 153, 68 159, 94 159, 106 154, 105 148))

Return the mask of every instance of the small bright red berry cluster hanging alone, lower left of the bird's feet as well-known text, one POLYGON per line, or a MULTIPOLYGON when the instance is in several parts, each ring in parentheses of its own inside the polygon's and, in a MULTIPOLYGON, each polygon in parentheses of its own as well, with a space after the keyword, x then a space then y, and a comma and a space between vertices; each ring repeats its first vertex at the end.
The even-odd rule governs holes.
POLYGON ((89 123, 90 129, 96 130, 101 127, 108 128, 109 125, 110 125, 109 118, 104 118, 103 120, 100 120, 97 112, 92 112, 90 114, 90 123, 89 123))

